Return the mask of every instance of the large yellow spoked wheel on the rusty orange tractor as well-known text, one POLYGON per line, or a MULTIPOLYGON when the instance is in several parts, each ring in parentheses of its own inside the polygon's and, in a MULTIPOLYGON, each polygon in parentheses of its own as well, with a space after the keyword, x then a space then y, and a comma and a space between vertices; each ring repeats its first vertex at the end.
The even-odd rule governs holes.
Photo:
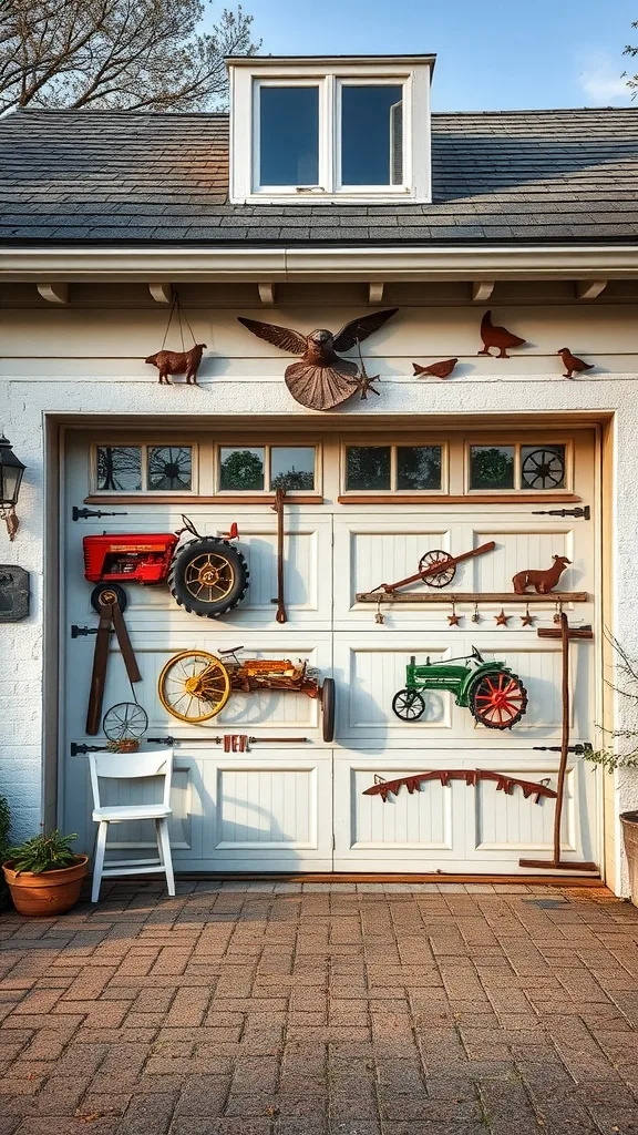
POLYGON ((159 678, 165 709, 178 721, 210 721, 226 705, 230 679, 224 663, 207 650, 183 650, 170 658, 159 678))

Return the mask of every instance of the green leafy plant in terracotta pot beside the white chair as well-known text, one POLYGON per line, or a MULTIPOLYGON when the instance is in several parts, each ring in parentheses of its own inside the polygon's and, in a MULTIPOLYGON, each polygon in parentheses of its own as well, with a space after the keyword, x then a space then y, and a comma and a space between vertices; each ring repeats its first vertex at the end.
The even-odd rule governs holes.
POLYGON ((41 832, 9 848, 2 871, 20 915, 61 915, 75 906, 89 865, 87 856, 72 849, 76 839, 75 833, 41 832))

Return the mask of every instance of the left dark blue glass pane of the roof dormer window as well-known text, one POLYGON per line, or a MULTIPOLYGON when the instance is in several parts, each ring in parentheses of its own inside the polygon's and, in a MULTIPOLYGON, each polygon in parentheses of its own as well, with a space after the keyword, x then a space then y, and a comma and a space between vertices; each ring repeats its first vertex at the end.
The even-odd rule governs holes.
POLYGON ((319 87, 261 86, 259 184, 319 182, 319 87))

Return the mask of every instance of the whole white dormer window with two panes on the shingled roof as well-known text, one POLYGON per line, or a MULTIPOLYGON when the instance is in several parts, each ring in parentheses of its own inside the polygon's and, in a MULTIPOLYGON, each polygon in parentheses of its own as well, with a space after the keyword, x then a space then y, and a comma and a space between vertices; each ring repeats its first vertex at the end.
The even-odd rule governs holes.
POLYGON ((228 61, 234 202, 430 200, 434 57, 228 61))

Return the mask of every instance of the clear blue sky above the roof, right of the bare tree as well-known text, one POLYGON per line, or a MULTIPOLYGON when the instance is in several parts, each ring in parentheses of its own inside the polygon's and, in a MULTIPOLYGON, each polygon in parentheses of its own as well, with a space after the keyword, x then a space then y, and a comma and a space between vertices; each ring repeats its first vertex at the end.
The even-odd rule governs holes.
MULTIPOLYGON (((638 0, 244 0, 266 54, 436 52, 435 110, 629 106, 638 0)), ((638 102, 638 100, 637 100, 638 102)))

